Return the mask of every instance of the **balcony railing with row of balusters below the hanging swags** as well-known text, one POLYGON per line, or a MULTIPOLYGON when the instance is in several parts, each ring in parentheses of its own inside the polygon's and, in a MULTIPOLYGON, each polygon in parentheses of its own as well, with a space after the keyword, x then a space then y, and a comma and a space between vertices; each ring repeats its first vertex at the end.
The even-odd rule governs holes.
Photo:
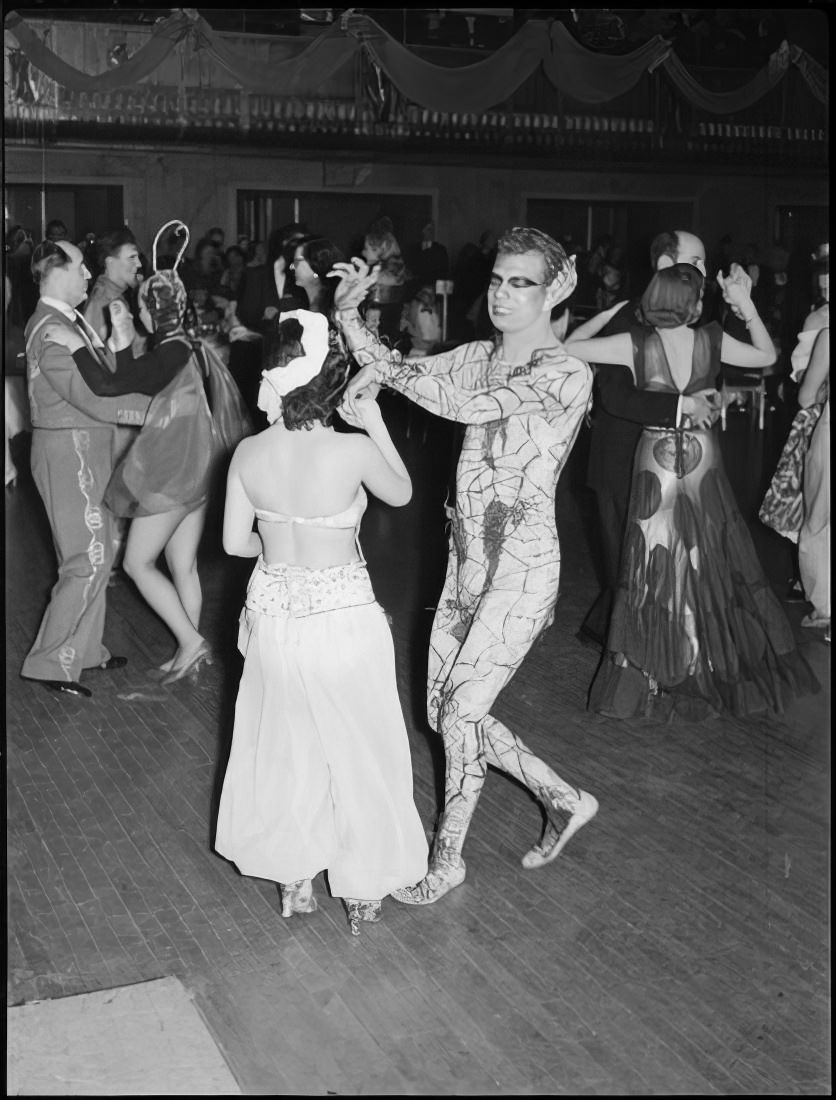
POLYGON ((298 100, 229 89, 164 88, 63 92, 57 103, 9 103, 7 138, 108 141, 211 141, 275 144, 323 151, 470 151, 542 156, 571 152, 580 160, 658 161, 697 156, 712 161, 755 160, 771 165, 824 167, 827 132, 816 127, 779 127, 694 121, 684 132, 653 118, 606 114, 543 114, 487 111, 442 113, 406 107, 382 120, 349 100, 298 100))

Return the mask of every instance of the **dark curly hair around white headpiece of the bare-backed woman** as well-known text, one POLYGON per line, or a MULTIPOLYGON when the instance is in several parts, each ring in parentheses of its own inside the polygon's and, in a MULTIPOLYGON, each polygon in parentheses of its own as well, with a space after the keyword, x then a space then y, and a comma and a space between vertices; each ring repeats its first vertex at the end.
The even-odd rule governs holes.
MULTIPOLYGON (((302 331, 301 323, 295 317, 274 324, 265 341, 262 364, 265 371, 286 366, 292 360, 305 354, 302 331)), ((288 431, 297 431, 299 428, 310 431, 317 421, 328 428, 333 420, 348 382, 349 360, 334 340, 329 339, 329 345, 319 374, 282 398, 282 419, 288 431)))

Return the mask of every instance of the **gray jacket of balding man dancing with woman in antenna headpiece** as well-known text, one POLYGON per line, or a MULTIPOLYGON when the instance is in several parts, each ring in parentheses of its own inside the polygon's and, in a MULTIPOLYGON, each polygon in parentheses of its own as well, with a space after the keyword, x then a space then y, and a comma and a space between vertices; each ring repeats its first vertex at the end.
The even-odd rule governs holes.
POLYGON ((26 323, 26 377, 33 428, 141 427, 150 397, 125 394, 97 397, 81 377, 66 348, 46 340, 54 327, 76 327, 59 309, 40 300, 26 323))

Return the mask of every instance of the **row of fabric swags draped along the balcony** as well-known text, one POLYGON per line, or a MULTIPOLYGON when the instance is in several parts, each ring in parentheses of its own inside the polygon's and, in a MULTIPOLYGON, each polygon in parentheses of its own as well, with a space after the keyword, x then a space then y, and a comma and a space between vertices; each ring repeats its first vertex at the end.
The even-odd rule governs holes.
POLYGON ((113 69, 91 75, 74 68, 50 50, 16 13, 6 30, 32 65, 72 91, 110 91, 136 85, 161 65, 180 42, 190 42, 230 74, 244 91, 273 96, 322 95, 329 78, 352 65, 363 51, 398 92, 433 111, 481 112, 501 107, 537 69, 563 95, 585 103, 603 103, 629 91, 661 66, 680 95, 701 110, 730 114, 751 107, 798 66, 811 92, 828 101, 828 73, 799 46, 783 43, 747 84, 729 91, 703 87, 659 35, 632 53, 598 54, 575 42, 562 23, 530 20, 484 61, 444 66, 425 61, 393 38, 367 15, 349 12, 298 52, 278 62, 258 62, 230 46, 194 9, 175 9, 157 23, 146 45, 113 69))

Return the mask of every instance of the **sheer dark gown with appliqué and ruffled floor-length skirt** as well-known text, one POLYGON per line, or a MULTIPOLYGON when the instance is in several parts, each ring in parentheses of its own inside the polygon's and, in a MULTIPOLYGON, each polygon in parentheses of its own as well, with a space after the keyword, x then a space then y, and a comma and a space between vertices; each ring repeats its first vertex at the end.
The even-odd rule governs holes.
MULTIPOLYGON (((678 393, 658 332, 630 329, 636 384, 678 393)), ((693 394, 718 382, 723 330, 694 329, 693 394)), ((781 712, 818 683, 761 569, 717 428, 646 428, 622 569, 590 710, 701 721, 781 712)))

